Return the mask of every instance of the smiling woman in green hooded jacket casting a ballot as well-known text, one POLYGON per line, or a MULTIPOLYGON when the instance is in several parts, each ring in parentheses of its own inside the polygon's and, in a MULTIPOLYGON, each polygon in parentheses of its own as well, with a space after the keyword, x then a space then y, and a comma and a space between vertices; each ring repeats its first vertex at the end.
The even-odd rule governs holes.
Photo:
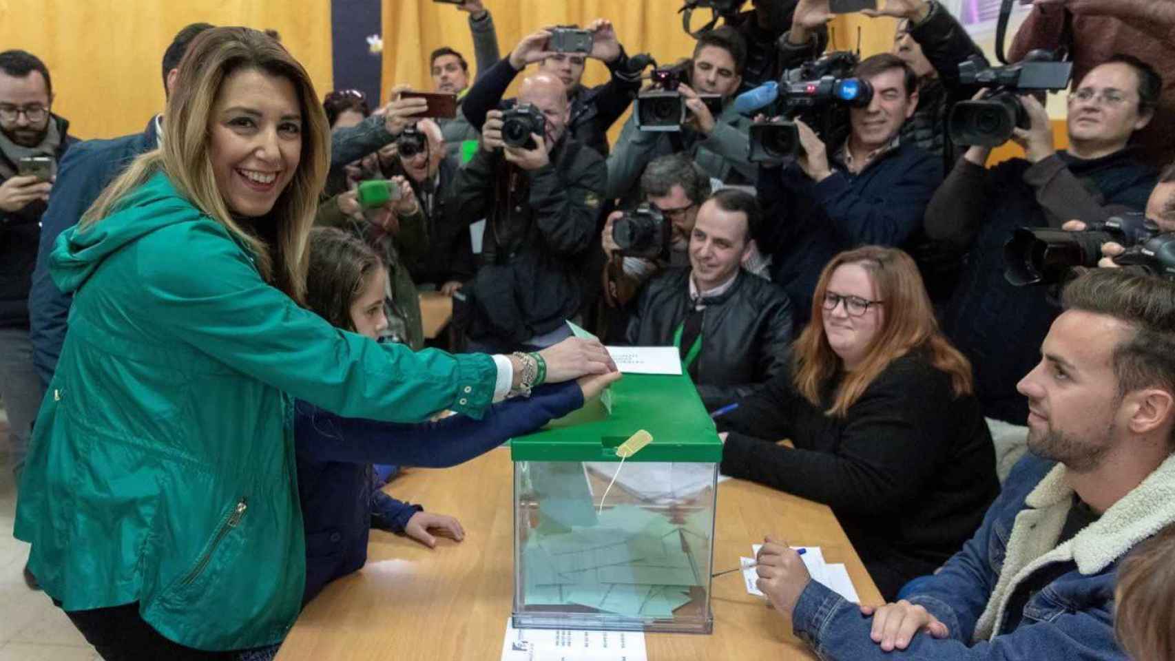
POLYGON ((479 417, 505 391, 615 369, 603 346, 412 353, 300 306, 328 163, 322 107, 286 49, 201 34, 162 147, 61 235, 69 333, 36 419, 15 535, 106 659, 222 659, 280 641, 304 540, 291 398, 343 416, 479 417))

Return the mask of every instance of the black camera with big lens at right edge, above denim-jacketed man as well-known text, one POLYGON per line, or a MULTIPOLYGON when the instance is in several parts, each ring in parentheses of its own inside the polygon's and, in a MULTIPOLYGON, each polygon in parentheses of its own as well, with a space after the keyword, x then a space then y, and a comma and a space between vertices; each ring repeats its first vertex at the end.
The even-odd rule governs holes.
POLYGON ((1059 283, 1074 267, 1096 267, 1110 241, 1126 248, 1114 257, 1119 265, 1175 279, 1175 232, 1161 232, 1140 213, 1090 223, 1086 231, 1020 228, 1003 244, 1003 277, 1016 286, 1059 283))

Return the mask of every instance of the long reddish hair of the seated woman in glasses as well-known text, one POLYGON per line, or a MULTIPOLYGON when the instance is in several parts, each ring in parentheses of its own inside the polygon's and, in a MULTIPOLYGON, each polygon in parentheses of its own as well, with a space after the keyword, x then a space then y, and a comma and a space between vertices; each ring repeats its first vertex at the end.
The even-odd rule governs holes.
POLYGON ((832 274, 842 264, 859 264, 870 274, 878 298, 885 302, 881 328, 858 369, 845 376, 826 414, 845 417, 865 390, 889 363, 915 349, 926 349, 931 364, 951 376, 955 397, 972 392, 971 363, 939 330, 931 298, 914 261, 897 248, 866 245, 841 252, 820 274, 812 297, 812 321, 792 348, 792 375, 797 392, 813 406, 840 370, 840 357, 824 332, 824 295, 832 274))

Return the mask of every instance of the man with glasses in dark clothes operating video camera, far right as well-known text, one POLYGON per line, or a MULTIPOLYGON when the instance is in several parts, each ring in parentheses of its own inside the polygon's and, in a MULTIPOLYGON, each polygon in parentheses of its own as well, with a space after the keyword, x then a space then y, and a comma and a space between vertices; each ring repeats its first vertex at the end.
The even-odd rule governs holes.
POLYGON ((971 360, 988 418, 1027 421, 1016 382, 1039 360, 1036 346, 1060 313, 1047 288, 1008 284, 1003 244, 1019 227, 1104 222, 1146 208, 1155 170, 1130 141, 1152 121, 1161 89, 1159 74, 1135 58, 1117 55, 1094 67, 1068 97, 1067 150, 1054 147, 1045 107, 1022 96, 1030 126, 1016 128, 1012 140, 1025 157, 985 169, 991 149, 968 148, 927 207, 927 236, 967 251, 941 321, 971 360))

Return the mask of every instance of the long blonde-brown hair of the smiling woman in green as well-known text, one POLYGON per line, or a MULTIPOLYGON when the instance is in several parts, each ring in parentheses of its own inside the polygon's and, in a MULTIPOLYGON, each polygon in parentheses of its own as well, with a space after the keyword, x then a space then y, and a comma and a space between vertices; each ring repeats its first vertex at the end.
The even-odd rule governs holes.
POLYGON ((246 27, 204 31, 180 62, 164 113, 162 147, 135 158, 82 214, 79 225, 85 229, 114 214, 128 194, 162 171, 193 205, 249 247, 266 282, 304 304, 307 237, 330 166, 330 127, 317 99, 302 65, 266 33, 246 27), (290 81, 302 114, 302 156, 270 211, 280 221, 274 223, 271 243, 234 220, 209 157, 212 114, 221 86, 234 73, 250 69, 290 81))

